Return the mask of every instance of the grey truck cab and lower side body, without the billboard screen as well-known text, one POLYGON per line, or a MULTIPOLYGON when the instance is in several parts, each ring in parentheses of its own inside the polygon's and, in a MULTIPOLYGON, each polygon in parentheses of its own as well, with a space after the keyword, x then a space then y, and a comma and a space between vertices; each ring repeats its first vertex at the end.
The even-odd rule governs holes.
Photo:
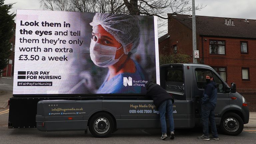
MULTIPOLYGON (((246 100, 208 65, 166 64, 160 66, 160 85, 174 96, 175 128, 201 126, 200 100, 206 74, 218 84, 216 125, 227 135, 238 135, 249 121, 246 100)), ((85 130, 107 137, 119 128, 160 128, 159 111, 143 96, 97 96, 73 100, 43 100, 37 104, 40 131, 85 130), (86 99, 87 98, 87 99, 86 99)))

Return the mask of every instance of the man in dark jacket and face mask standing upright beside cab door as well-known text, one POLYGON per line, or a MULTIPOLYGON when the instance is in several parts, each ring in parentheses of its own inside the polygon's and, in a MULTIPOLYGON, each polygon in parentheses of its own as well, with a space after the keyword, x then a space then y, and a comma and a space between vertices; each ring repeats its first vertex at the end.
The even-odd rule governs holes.
POLYGON ((214 119, 214 109, 217 102, 217 84, 213 81, 212 74, 206 75, 206 82, 207 82, 207 85, 203 92, 202 104, 201 104, 203 135, 197 138, 201 140, 210 140, 210 139, 219 140, 216 123, 214 119), (211 123, 211 130, 212 130, 212 136, 210 137, 209 137, 208 119, 211 123))

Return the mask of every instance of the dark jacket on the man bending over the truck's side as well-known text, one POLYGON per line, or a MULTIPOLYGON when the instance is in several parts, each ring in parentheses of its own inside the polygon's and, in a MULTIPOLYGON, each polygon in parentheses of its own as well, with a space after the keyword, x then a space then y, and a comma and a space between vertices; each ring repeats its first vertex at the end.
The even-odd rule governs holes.
POLYGON ((160 85, 155 84, 153 82, 148 82, 146 84, 147 94, 146 96, 152 97, 154 104, 159 107, 159 105, 167 100, 171 99, 172 103, 174 103, 174 99, 171 94, 167 93, 165 89, 163 89, 160 85))

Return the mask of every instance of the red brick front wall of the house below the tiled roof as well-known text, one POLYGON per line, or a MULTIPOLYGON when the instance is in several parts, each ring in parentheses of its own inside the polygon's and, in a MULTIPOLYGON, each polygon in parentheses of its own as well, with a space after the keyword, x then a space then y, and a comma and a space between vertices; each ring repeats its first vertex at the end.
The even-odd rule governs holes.
MULTIPOLYGON (((202 43, 201 39, 200 43, 202 43)), ((226 67, 227 83, 236 83, 238 91, 256 92, 256 40, 237 38, 203 37, 204 63, 210 66, 226 67), (205 40, 206 39, 206 40, 205 40), (225 55, 209 53, 210 40, 225 40, 225 55), (240 41, 248 41, 248 54, 241 54, 240 41), (242 67, 249 68, 249 79, 242 80, 242 67), (248 90, 251 89, 251 90, 248 90)), ((202 58, 202 44, 199 55, 202 58)))

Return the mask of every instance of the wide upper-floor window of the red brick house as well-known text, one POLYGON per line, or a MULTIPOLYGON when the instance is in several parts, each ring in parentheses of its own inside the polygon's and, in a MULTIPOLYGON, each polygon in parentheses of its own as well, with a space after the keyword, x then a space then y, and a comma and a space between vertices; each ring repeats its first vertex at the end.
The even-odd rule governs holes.
POLYGON ((225 41, 210 40, 210 54, 225 54, 225 41))

